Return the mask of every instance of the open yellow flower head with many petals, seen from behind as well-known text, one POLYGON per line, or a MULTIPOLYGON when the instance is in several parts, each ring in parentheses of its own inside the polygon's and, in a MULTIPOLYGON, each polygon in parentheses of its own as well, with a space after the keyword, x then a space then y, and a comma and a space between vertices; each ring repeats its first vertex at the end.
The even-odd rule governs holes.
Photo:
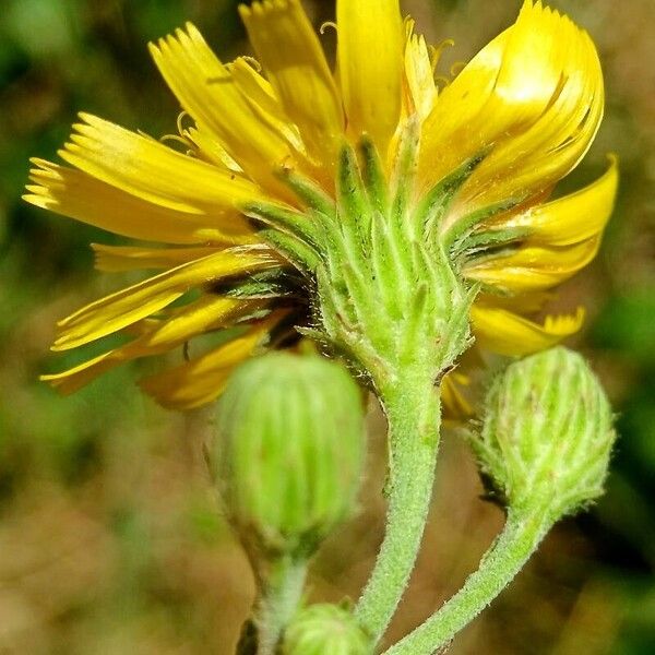
MULTIPOLYGON (((616 193, 612 159, 591 186, 548 201, 603 115, 600 66, 584 31, 526 0, 439 90, 438 50, 403 22, 398 0, 337 0, 334 71, 299 0, 240 13, 257 59, 222 62, 191 24, 150 46, 183 108, 181 150, 81 114, 59 152, 68 166, 34 159, 28 202, 164 245, 93 246, 99 270, 163 272, 62 320, 56 350, 118 332, 130 341, 45 379, 72 392, 123 361, 236 329, 141 382, 166 406, 195 407, 221 393, 239 361, 293 344, 296 326, 320 332, 327 310, 317 286, 377 281, 371 302, 400 325, 405 291, 395 296, 394 266, 410 271, 403 285, 413 307, 425 306, 420 262, 436 251, 477 294, 469 318, 481 347, 525 355, 580 327, 581 311, 529 317, 594 258, 616 193), (350 236, 335 245, 334 230, 350 236), (352 247, 369 269, 355 274, 346 263, 336 281, 338 266, 325 261, 341 248, 331 261, 347 262, 352 247)), ((332 309, 340 334, 366 322, 358 306, 332 309)), ((379 349, 400 352, 392 337, 381 334, 379 349)), ((333 341, 367 367, 353 344, 333 341)))

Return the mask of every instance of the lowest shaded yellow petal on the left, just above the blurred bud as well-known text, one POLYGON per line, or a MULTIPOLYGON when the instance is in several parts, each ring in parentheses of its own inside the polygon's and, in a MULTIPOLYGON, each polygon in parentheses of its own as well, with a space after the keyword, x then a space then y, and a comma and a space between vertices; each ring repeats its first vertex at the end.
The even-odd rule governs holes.
POLYGON ((139 385, 169 409, 192 409, 215 401, 233 370, 263 344, 273 323, 257 324, 250 332, 207 354, 151 376, 139 385))

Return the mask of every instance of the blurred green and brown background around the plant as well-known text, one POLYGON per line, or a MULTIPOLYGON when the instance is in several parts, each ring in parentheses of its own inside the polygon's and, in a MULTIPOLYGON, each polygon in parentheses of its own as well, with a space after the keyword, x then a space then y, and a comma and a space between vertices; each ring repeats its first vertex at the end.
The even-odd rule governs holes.
MULTIPOLYGON (((468 59, 514 17, 520 0, 406 2, 440 64, 468 59)), ((655 3, 560 0, 593 35, 607 116, 564 182, 620 157, 615 216, 594 264, 565 285, 583 302, 576 340, 618 412, 607 496, 548 537, 513 586, 451 653, 655 653, 655 3)), ((332 2, 306 1, 317 23, 332 2)), ((211 413, 165 412, 136 393, 134 370, 61 398, 37 381, 66 365, 53 323, 124 278, 93 272, 98 230, 21 202, 29 156, 51 158, 79 110, 151 134, 175 132, 178 108, 145 43, 193 21, 228 59, 246 51, 228 0, 2 0, 0 7, 0 653, 231 652, 252 599, 246 560, 216 511, 201 444, 211 413)), ((333 34, 327 33, 327 48, 333 34)), ((134 365, 138 366, 138 365, 134 365)), ((381 538, 383 422, 371 410, 360 516, 317 559, 314 599, 356 596, 381 538)), ((437 500, 400 636, 458 587, 501 524, 478 499, 465 448, 444 440, 437 500)))

